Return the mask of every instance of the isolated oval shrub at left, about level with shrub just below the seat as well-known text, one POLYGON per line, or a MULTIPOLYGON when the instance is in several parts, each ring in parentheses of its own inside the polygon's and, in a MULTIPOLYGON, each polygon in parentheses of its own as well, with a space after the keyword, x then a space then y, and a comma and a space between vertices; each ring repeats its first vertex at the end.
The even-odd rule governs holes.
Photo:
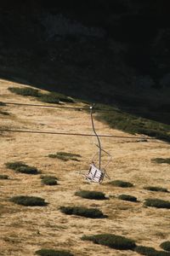
POLYGON ((47 205, 43 198, 37 196, 18 195, 12 197, 10 201, 25 207, 44 207, 47 205))

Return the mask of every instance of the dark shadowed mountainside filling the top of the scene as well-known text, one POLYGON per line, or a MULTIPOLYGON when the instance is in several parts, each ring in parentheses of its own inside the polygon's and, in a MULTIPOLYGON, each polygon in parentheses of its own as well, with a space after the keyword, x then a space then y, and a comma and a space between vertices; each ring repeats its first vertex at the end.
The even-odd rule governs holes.
POLYGON ((0 3, 0 76, 170 124, 168 1, 0 3))

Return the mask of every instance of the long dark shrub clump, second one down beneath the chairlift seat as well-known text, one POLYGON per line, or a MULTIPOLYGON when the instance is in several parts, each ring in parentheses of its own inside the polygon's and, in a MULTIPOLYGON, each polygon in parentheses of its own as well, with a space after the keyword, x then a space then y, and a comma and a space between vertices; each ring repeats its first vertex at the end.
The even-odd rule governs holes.
POLYGON ((105 218, 106 216, 99 209, 87 207, 60 207, 61 212, 68 215, 77 215, 86 218, 105 218))

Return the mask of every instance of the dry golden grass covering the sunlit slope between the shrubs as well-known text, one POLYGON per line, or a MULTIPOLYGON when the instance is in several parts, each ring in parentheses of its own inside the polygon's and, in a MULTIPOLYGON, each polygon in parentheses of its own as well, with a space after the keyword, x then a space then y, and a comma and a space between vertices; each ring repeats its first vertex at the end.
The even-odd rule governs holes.
MULTIPOLYGON (((0 80, 0 102, 39 103, 32 97, 17 96, 8 91, 9 86, 23 86, 0 80)), ((76 106, 83 104, 77 103, 76 106)), ((73 106, 71 104, 71 106, 73 106)), ((8 105, 3 110, 10 116, 1 116, 1 126, 9 129, 38 131, 61 131, 92 133, 88 113, 69 109, 31 108, 8 105)), ((95 121, 96 130, 102 134, 126 135, 95 121)), ((94 139, 95 140, 95 139, 94 139)), ((167 164, 158 165, 150 160, 169 157, 169 145, 160 141, 137 143, 123 139, 102 138, 102 145, 113 160, 108 166, 111 180, 121 179, 134 183, 133 188, 117 188, 102 184, 87 183, 79 175, 96 152, 92 137, 69 137, 27 133, 0 134, 0 174, 8 180, 0 180, 0 255, 31 256, 42 248, 64 248, 77 256, 129 255, 132 251, 117 251, 109 247, 81 241, 83 235, 112 233, 132 238, 138 245, 159 249, 162 241, 170 240, 170 210, 144 207, 146 198, 170 200, 168 193, 144 190, 146 185, 165 187, 170 190, 170 174, 167 164), (80 162, 48 158, 58 151, 81 154, 80 162), (36 166, 42 175, 54 175, 59 185, 41 183, 40 175, 26 175, 8 170, 8 161, 24 161, 36 166), (75 194, 79 189, 102 191, 111 196, 107 201, 82 199, 75 194), (119 201, 120 194, 134 195, 138 203, 119 201), (14 195, 39 196, 48 202, 47 207, 22 207, 8 199, 14 195), (59 211, 60 206, 99 208, 109 218, 89 219, 68 216, 59 211)), ((106 158, 104 157, 104 161, 106 158)))

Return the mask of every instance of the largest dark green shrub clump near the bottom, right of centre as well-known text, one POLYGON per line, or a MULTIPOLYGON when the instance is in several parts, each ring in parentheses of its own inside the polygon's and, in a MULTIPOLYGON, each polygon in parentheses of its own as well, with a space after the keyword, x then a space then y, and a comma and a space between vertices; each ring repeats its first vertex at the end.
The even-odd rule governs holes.
POLYGON ((96 244, 105 245, 118 250, 129 250, 136 246, 135 241, 124 236, 116 236, 112 234, 82 236, 82 240, 93 241, 96 244))

